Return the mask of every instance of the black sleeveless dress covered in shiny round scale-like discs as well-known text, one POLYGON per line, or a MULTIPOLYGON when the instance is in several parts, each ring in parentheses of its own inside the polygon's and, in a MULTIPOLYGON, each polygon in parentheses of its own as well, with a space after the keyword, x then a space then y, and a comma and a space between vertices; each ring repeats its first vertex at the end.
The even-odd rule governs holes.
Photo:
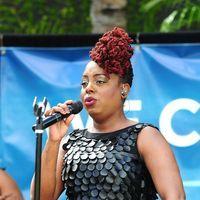
MULTIPOLYGON (((74 130, 66 151, 62 181, 69 200, 157 199, 151 176, 137 150, 138 123, 110 133, 74 130)), ((156 128, 156 127, 154 127, 156 128)))

